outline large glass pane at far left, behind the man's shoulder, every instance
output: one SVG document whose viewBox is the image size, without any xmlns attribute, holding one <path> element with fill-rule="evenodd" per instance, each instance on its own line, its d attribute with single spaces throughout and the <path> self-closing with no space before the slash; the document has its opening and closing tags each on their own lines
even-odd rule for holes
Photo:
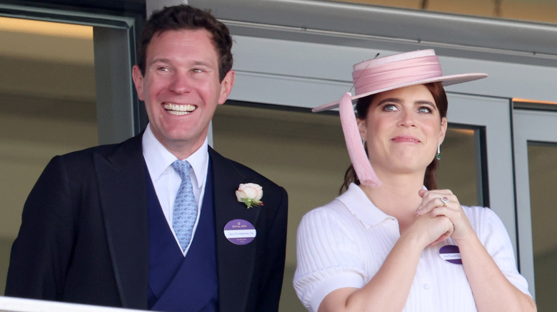
<svg viewBox="0 0 557 312">
<path fill-rule="evenodd" d="M 0 18 L 0 293 L 31 187 L 54 157 L 97 144 L 91 27 Z"/>
</svg>

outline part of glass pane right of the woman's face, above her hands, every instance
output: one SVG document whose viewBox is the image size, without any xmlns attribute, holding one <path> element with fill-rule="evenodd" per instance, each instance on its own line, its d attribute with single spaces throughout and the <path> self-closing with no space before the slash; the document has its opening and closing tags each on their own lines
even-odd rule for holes
<svg viewBox="0 0 557 312">
<path fill-rule="evenodd" d="M 481 194 L 478 194 L 481 164 L 478 163 L 480 157 L 476 156 L 479 152 L 476 131 L 449 125 L 437 170 L 437 187 L 451 189 L 466 206 L 483 205 Z"/>
</svg>

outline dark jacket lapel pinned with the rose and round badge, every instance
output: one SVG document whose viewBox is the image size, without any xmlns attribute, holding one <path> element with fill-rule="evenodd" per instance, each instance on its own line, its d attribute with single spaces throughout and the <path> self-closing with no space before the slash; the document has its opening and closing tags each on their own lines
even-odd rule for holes
<svg viewBox="0 0 557 312">
<path fill-rule="evenodd" d="M 243 219 L 257 228 L 261 210 L 247 209 L 244 203 L 236 201 L 235 191 L 239 184 L 253 181 L 246 181 L 246 177 L 231 166 L 230 160 L 211 148 L 209 156 L 214 175 L 219 306 L 221 311 L 246 311 L 256 261 L 256 241 L 245 245 L 233 244 L 224 236 L 224 227 L 231 220 Z"/>
</svg>

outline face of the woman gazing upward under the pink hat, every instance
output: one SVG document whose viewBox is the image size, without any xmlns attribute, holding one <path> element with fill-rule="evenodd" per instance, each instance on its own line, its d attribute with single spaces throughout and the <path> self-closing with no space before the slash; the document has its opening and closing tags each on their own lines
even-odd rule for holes
<svg viewBox="0 0 557 312">
<path fill-rule="evenodd" d="M 358 119 L 369 160 L 376 172 L 425 172 L 447 128 L 433 95 L 424 85 L 373 96 L 365 120 Z"/>
</svg>

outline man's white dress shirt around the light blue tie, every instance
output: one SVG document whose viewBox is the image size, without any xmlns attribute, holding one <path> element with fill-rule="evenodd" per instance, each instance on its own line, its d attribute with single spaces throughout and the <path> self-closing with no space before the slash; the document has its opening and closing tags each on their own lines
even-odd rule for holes
<svg viewBox="0 0 557 312">
<path fill-rule="evenodd" d="M 178 160 L 178 158 L 172 155 L 169 150 L 166 150 L 166 147 L 156 139 L 151 130 L 151 125 L 147 125 L 142 139 L 143 156 L 147 164 L 147 169 L 149 170 L 149 175 L 151 175 L 151 181 L 155 187 L 156 196 L 159 197 L 159 203 L 161 204 L 164 217 L 166 217 L 166 222 L 169 223 L 172 234 L 174 234 L 176 244 L 180 246 L 178 238 L 176 238 L 176 234 L 172 228 L 174 199 L 176 199 L 176 194 L 178 194 L 181 178 L 171 165 L 174 161 Z M 194 188 L 194 196 L 197 203 L 197 220 L 189 245 L 191 245 L 191 241 L 194 241 L 194 235 L 201 214 L 201 203 L 203 202 L 202 199 L 205 193 L 205 183 L 209 167 L 208 146 L 207 139 L 205 138 L 203 145 L 186 158 L 191 165 L 189 176 L 191 185 Z M 184 255 L 187 253 L 189 245 L 186 246 L 185 250 L 182 250 Z"/>
</svg>

